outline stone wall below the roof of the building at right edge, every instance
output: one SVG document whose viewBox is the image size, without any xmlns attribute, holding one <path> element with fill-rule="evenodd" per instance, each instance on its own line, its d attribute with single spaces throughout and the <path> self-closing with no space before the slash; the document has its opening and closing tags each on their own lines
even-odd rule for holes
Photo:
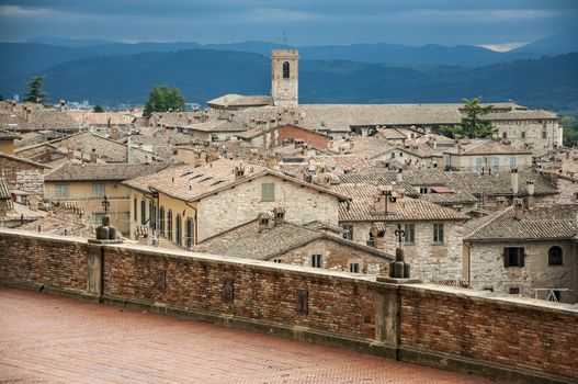
<svg viewBox="0 0 578 384">
<path fill-rule="evenodd" d="M 548 266 L 548 251 L 555 246 L 562 248 L 562 266 Z M 506 247 L 524 248 L 523 267 L 505 267 Z M 577 302 L 578 267 L 574 241 L 466 242 L 464 255 L 465 273 L 475 290 L 502 294 L 519 292 L 522 296 L 534 297 L 534 289 L 566 289 L 570 291 L 559 293 L 560 302 Z M 547 292 L 539 291 L 537 297 L 547 298 Z"/>
</svg>

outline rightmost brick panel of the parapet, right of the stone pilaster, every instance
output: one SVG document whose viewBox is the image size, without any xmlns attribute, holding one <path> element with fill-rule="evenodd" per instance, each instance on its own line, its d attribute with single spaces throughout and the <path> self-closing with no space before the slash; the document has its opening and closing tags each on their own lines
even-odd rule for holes
<svg viewBox="0 0 578 384">
<path fill-rule="evenodd" d="M 401 289 L 403 346 L 578 377 L 578 315 L 439 290 Z"/>
</svg>

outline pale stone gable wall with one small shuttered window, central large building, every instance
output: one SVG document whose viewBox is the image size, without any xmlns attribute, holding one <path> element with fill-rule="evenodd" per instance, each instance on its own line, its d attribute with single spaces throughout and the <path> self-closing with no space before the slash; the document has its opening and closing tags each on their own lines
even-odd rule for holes
<svg viewBox="0 0 578 384">
<path fill-rule="evenodd" d="M 275 185 L 274 200 L 262 200 L 263 183 Z M 201 200 L 197 207 L 199 241 L 247 223 L 259 212 L 271 212 L 275 207 L 284 208 L 285 219 L 291 223 L 319 221 L 338 224 L 337 196 L 274 176 L 264 176 Z"/>
</svg>

